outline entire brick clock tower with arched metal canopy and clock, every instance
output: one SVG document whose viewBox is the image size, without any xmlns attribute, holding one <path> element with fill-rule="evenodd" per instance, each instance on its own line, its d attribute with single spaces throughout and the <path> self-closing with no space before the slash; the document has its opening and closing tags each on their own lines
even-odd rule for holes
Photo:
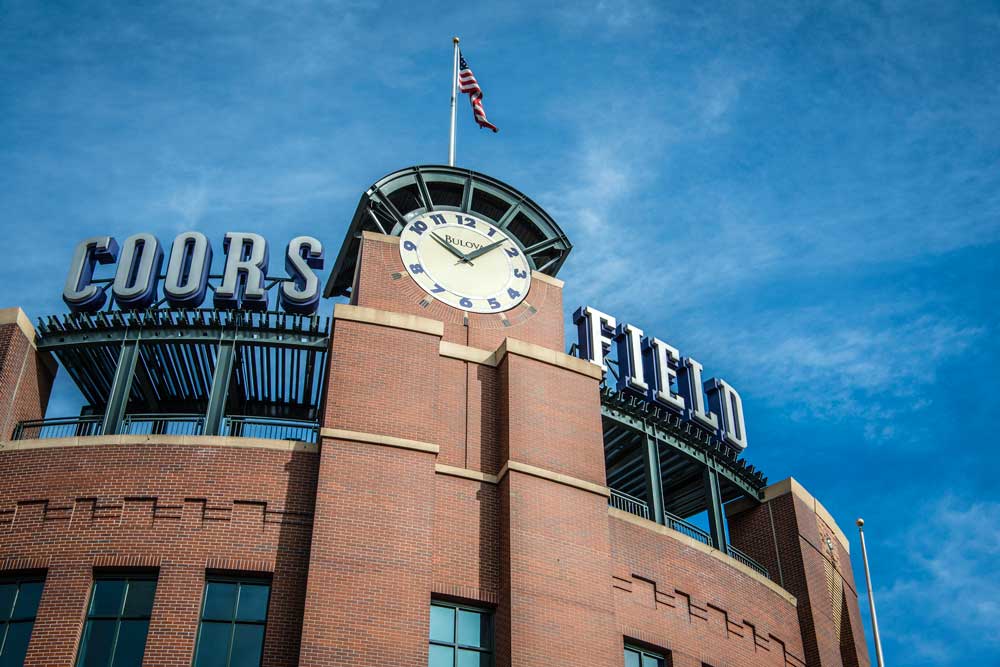
<svg viewBox="0 0 1000 667">
<path fill-rule="evenodd" d="M 350 303 L 334 312 L 301 665 L 426 667 L 435 603 L 491 614 L 498 667 L 621 660 L 602 373 L 565 353 L 555 277 L 570 248 L 476 172 L 412 167 L 362 196 L 326 286 Z M 359 648 L 373 628 L 393 643 Z"/>
</svg>

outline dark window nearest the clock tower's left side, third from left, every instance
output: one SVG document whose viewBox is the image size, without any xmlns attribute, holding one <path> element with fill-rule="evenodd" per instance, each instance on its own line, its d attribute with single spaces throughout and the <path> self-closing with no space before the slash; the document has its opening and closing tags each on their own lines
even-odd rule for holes
<svg viewBox="0 0 1000 667">
<path fill-rule="evenodd" d="M 209 577 L 201 604 L 195 667 L 252 667 L 264 654 L 271 583 L 266 579 Z"/>
</svg>

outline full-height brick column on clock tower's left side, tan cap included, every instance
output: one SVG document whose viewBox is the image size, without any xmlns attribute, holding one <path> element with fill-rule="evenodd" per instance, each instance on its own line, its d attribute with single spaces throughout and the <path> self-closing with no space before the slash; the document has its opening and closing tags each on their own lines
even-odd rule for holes
<svg viewBox="0 0 1000 667">
<path fill-rule="evenodd" d="M 441 331 L 336 308 L 300 665 L 427 665 Z"/>
</svg>

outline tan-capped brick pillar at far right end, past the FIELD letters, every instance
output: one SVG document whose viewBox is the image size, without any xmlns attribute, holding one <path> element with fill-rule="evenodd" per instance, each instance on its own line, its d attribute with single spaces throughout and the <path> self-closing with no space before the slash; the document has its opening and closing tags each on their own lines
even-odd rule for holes
<svg viewBox="0 0 1000 667">
<path fill-rule="evenodd" d="M 868 667 L 847 537 L 792 478 L 769 486 L 764 499 L 727 507 L 730 539 L 798 599 L 806 663 Z"/>
</svg>

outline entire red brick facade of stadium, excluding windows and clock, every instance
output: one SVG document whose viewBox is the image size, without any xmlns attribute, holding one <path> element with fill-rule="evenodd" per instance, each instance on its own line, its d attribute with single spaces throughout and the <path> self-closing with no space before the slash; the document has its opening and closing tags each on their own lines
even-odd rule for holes
<svg viewBox="0 0 1000 667">
<path fill-rule="evenodd" d="M 424 667 L 440 598 L 494 611 L 497 667 L 613 667 L 626 642 L 676 667 L 867 667 L 849 554 L 804 490 L 729 518 L 777 583 L 609 509 L 600 373 L 564 354 L 559 281 L 466 318 L 425 301 L 395 239 L 366 234 L 354 295 L 335 311 L 318 447 L 0 443 L 0 568 L 46 573 L 27 664 L 72 665 L 94 571 L 127 568 L 159 576 L 149 665 L 191 664 L 206 572 L 236 571 L 272 579 L 269 666 Z M 10 428 L 51 385 L 14 329 Z"/>
</svg>

